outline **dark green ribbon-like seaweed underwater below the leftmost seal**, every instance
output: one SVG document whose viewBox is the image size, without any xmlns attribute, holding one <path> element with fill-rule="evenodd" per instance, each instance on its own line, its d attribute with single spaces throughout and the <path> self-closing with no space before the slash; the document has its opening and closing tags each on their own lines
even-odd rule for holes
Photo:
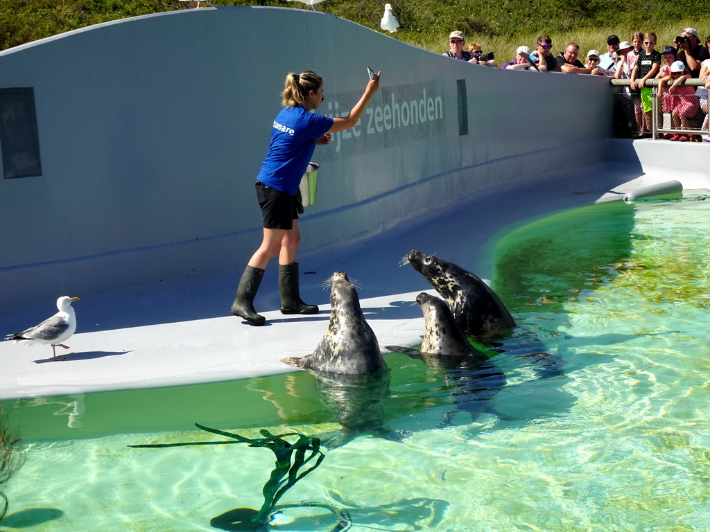
<svg viewBox="0 0 710 532">
<path fill-rule="evenodd" d="M 246 443 L 249 447 L 268 448 L 276 455 L 276 465 L 271 472 L 271 477 L 264 484 L 262 489 L 264 503 L 261 509 L 256 511 L 251 508 L 237 508 L 226 511 L 210 521 L 214 528 L 221 528 L 228 531 L 246 531 L 258 530 L 263 525 L 266 525 L 274 514 L 286 508 L 294 508 L 298 506 L 320 506 L 332 511 L 337 516 L 338 523 L 333 528 L 333 532 L 344 531 L 350 528 L 352 522 L 348 511 L 339 509 L 337 506 L 320 501 L 302 501 L 300 503 L 280 504 L 276 505 L 285 492 L 296 482 L 301 480 L 308 473 L 318 467 L 325 455 L 320 450 L 320 439 L 315 437 L 305 436 L 300 433 L 285 433 L 273 435 L 265 428 L 262 428 L 261 433 L 264 438 L 251 439 L 240 436 L 239 434 L 220 431 L 216 428 L 209 428 L 195 423 L 197 428 L 203 431 L 226 436 L 231 440 L 222 441 L 202 441 L 202 442 L 187 442 L 187 443 L 152 443 L 144 445 L 129 445 L 131 448 L 160 448 L 160 447 L 182 447 L 185 445 L 224 445 L 225 443 Z M 297 437 L 294 443 L 286 440 L 286 437 Z M 307 470 L 299 472 L 301 467 L 315 459 L 315 464 L 308 467 Z"/>
</svg>

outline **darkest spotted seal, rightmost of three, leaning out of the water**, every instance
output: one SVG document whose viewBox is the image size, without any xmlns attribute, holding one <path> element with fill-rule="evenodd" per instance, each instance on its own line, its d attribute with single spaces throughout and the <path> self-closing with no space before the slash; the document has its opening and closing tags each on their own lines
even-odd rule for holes
<svg viewBox="0 0 710 532">
<path fill-rule="evenodd" d="M 447 301 L 464 334 L 493 338 L 515 327 L 503 301 L 476 275 L 453 262 L 416 250 L 408 253 L 404 262 L 407 261 Z"/>
</svg>

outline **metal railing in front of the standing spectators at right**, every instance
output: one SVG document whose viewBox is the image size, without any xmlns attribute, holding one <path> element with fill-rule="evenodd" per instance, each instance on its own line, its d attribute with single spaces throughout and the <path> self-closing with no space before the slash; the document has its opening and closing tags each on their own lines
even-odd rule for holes
<svg viewBox="0 0 710 532">
<path fill-rule="evenodd" d="M 695 94 L 674 95 L 668 93 L 668 84 L 663 87 L 663 96 L 665 99 L 658 97 L 659 79 L 649 79 L 645 86 L 651 88 L 652 103 L 651 103 L 651 138 L 658 138 L 659 134 L 672 133 L 675 135 L 710 135 L 710 126 L 708 124 L 708 101 L 701 101 Z M 629 87 L 630 80 L 628 79 L 611 79 L 613 87 Z M 681 85 L 686 87 L 704 87 L 704 79 L 686 79 Z M 633 130 L 632 124 L 640 131 L 638 126 L 638 116 L 643 113 L 641 110 L 640 95 L 630 92 L 613 92 L 612 97 L 615 98 L 614 105 L 614 124 L 615 133 L 617 126 L 620 123 L 627 123 L 626 128 Z M 689 109 L 697 110 L 692 116 L 680 116 L 678 113 L 672 113 L 671 109 L 677 109 L 678 105 L 686 106 Z M 619 116 L 618 113 L 622 113 Z M 676 126 L 676 127 L 674 127 Z M 629 131 L 630 133 L 630 131 Z M 623 136 L 623 133 L 620 135 Z"/>
</svg>

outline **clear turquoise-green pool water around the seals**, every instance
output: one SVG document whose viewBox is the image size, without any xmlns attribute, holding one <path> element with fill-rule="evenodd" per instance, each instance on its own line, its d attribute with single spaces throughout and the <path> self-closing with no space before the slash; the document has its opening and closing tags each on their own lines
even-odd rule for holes
<svg viewBox="0 0 710 532">
<path fill-rule="evenodd" d="M 519 323 L 492 353 L 505 383 L 465 403 L 450 372 L 386 355 L 384 424 L 410 436 L 324 450 L 282 502 L 347 509 L 354 531 L 709 530 L 703 198 L 586 206 L 496 238 L 495 288 Z M 272 453 L 128 445 L 222 439 L 195 422 L 249 438 L 263 427 L 335 431 L 320 397 L 300 372 L 7 402 L 26 462 L 5 489 L 0 530 L 215 530 L 215 516 L 261 506 Z M 317 531 L 336 521 L 316 507 L 272 524 Z"/>
</svg>

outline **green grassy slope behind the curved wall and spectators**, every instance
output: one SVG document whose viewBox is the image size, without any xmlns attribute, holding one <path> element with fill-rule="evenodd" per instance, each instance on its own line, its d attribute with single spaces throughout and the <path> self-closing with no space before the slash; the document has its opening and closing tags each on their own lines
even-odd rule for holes
<svg viewBox="0 0 710 532">
<path fill-rule="evenodd" d="M 380 30 L 386 0 L 326 0 L 317 9 Z M 310 9 L 285 0 L 212 0 L 219 6 L 261 5 Z M 390 0 L 400 21 L 398 38 L 405 43 L 443 53 L 451 31 L 466 33 L 467 43 L 480 43 L 494 52 L 499 64 L 515 55 L 515 48 L 532 48 L 537 35 L 552 37 L 557 54 L 570 41 L 580 55 L 591 48 L 606 52 L 612 33 L 631 40 L 634 31 L 655 31 L 656 48 L 672 43 L 683 28 L 710 35 L 710 12 L 697 0 Z M 185 9 L 178 0 L 13 0 L 0 7 L 0 49 L 10 48 L 92 24 L 129 16 Z M 542 14 L 541 14 L 542 13 Z M 612 22 L 610 22 L 612 21 Z"/>
</svg>

